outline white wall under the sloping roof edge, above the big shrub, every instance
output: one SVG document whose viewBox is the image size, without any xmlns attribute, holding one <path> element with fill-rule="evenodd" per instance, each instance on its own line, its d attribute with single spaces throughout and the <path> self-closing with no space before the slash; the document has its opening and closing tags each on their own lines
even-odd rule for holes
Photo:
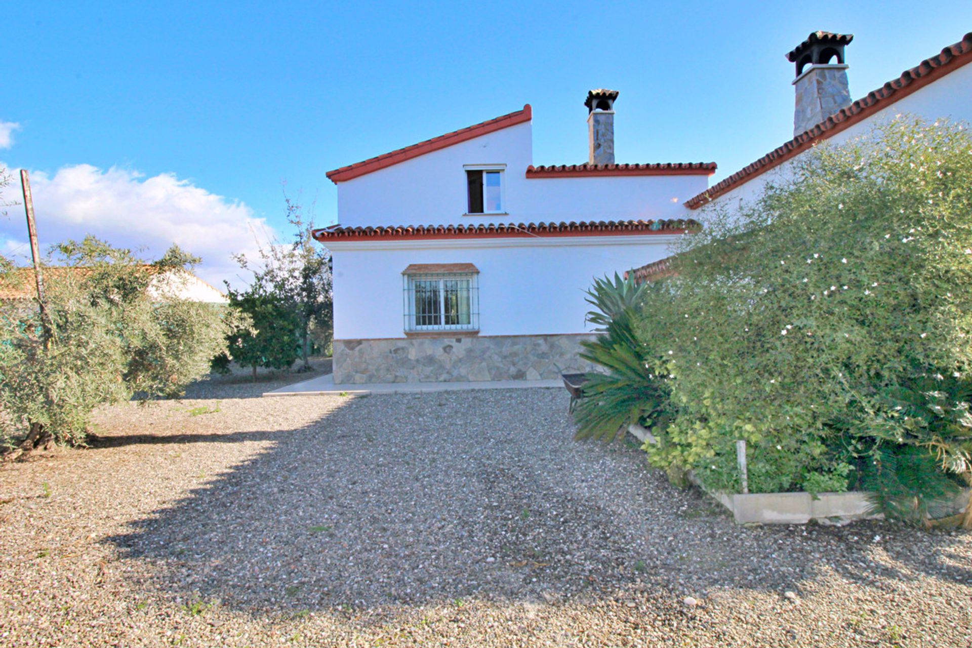
<svg viewBox="0 0 972 648">
<path fill-rule="evenodd" d="M 912 94 L 878 111 L 867 119 L 861 119 L 847 130 L 837 133 L 826 140 L 831 145 L 848 142 L 851 139 L 866 135 L 878 123 L 887 119 L 894 119 L 898 115 L 913 115 L 924 119 L 947 118 L 972 122 L 972 64 L 964 65 L 954 72 L 937 81 L 921 87 Z M 805 153 L 800 153 L 806 154 Z M 712 201 L 726 209 L 738 209 L 741 204 L 757 198 L 766 184 L 772 180 L 781 180 L 792 173 L 793 159 L 783 162 L 780 166 L 763 173 L 745 185 L 733 188 Z M 685 209 L 678 218 L 692 218 L 698 210 Z"/>
</svg>

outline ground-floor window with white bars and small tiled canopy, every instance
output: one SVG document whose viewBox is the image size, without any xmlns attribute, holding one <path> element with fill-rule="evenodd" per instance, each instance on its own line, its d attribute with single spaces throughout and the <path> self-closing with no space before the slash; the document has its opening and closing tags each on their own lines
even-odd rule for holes
<svg viewBox="0 0 972 648">
<path fill-rule="evenodd" d="M 430 271 L 443 266 L 466 271 Z M 479 330 L 479 272 L 471 263 L 410 265 L 402 274 L 405 331 Z"/>
</svg>

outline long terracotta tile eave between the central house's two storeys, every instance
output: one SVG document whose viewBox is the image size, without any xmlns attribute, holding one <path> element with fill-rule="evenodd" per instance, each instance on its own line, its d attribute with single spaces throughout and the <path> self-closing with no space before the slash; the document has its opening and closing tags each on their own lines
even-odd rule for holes
<svg viewBox="0 0 972 648">
<path fill-rule="evenodd" d="M 315 229 L 314 238 L 321 242 L 335 239 L 389 238 L 526 238 L 544 236 L 623 236 L 632 234 L 679 234 L 699 226 L 689 220 L 671 221 L 598 221 L 490 223 L 470 225 L 395 225 L 376 227 L 343 227 L 332 225 Z"/>
</svg>

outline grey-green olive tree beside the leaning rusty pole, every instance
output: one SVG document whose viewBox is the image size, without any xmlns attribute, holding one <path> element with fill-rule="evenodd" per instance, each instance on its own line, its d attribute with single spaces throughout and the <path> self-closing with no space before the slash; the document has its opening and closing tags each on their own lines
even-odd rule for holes
<svg viewBox="0 0 972 648">
<path fill-rule="evenodd" d="M 0 308 L 0 425 L 25 450 L 84 443 L 99 405 L 181 394 L 226 348 L 232 324 L 217 307 L 149 295 L 154 275 L 193 260 L 177 248 L 151 265 L 90 236 L 54 252 L 47 322 L 36 302 Z"/>
</svg>

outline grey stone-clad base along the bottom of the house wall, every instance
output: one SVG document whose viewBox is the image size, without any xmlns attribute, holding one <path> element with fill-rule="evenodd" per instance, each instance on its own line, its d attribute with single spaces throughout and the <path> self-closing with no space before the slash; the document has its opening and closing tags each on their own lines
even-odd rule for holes
<svg viewBox="0 0 972 648">
<path fill-rule="evenodd" d="M 573 335 L 334 340 L 334 384 L 544 380 L 592 370 Z"/>
</svg>

